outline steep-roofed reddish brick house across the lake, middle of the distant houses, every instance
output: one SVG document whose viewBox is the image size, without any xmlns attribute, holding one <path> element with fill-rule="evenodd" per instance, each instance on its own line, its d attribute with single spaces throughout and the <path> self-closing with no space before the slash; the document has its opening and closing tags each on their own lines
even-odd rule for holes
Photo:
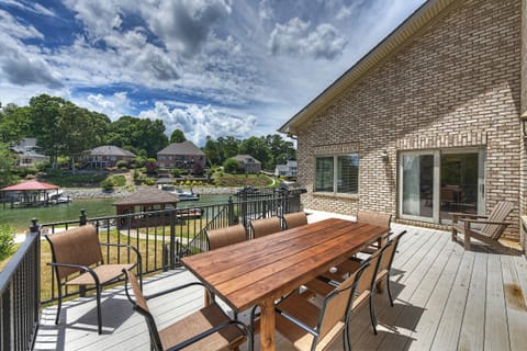
<svg viewBox="0 0 527 351">
<path fill-rule="evenodd" d="M 205 154 L 190 140 L 172 143 L 157 152 L 157 165 L 160 168 L 193 170 L 198 165 L 205 169 Z"/>
</svg>

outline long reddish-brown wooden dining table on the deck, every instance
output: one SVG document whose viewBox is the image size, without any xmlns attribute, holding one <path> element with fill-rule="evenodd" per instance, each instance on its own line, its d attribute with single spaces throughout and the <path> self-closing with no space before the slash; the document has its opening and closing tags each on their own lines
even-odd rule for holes
<svg viewBox="0 0 527 351">
<path fill-rule="evenodd" d="M 234 312 L 258 305 L 260 350 L 274 350 L 274 301 L 370 244 L 383 240 L 389 230 L 328 218 L 181 261 Z"/>
</svg>

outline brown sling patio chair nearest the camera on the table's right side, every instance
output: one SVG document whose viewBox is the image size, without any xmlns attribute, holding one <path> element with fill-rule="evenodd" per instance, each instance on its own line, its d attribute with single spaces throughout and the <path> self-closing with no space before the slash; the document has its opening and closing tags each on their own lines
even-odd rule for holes
<svg viewBox="0 0 527 351">
<path fill-rule="evenodd" d="M 333 286 L 317 307 L 303 294 L 293 293 L 276 304 L 276 329 L 296 350 L 328 350 L 343 335 L 345 350 L 351 349 L 349 322 L 356 287 L 368 268 L 366 262 L 338 286 Z"/>
</svg>

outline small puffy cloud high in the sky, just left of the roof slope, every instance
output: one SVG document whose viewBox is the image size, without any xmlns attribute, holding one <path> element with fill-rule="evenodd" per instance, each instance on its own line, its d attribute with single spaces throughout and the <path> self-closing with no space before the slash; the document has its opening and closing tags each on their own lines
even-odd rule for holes
<svg viewBox="0 0 527 351">
<path fill-rule="evenodd" d="M 271 33 L 269 46 L 274 55 L 304 56 L 315 59 L 334 59 L 346 47 L 344 36 L 337 34 L 337 29 L 323 23 L 310 31 L 311 23 L 291 19 L 285 24 L 277 23 Z"/>
</svg>

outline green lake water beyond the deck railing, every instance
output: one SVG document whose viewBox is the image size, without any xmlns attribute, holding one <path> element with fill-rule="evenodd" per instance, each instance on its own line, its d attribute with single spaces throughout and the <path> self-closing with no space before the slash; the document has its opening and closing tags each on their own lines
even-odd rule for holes
<svg viewBox="0 0 527 351">
<path fill-rule="evenodd" d="M 183 201 L 179 203 L 178 207 L 225 203 L 228 201 L 228 194 L 202 194 L 199 201 Z M 77 219 L 80 216 L 81 208 L 86 210 L 88 218 L 112 216 L 115 214 L 113 203 L 116 200 L 116 197 L 74 200 L 69 204 L 25 208 L 10 208 L 9 205 L 3 208 L 3 204 L 0 204 L 0 223 L 11 225 L 16 233 L 24 233 L 31 226 L 32 218 L 37 218 L 38 223 Z"/>
</svg>

